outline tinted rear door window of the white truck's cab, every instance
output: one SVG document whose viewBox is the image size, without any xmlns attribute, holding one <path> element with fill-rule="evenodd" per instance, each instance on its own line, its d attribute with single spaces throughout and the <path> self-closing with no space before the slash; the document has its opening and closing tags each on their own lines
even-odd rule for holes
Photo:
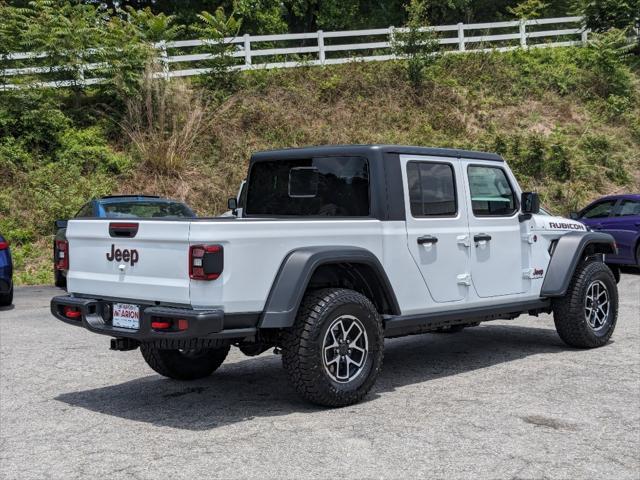
<svg viewBox="0 0 640 480">
<path fill-rule="evenodd" d="M 407 163 L 413 217 L 453 216 L 458 211 L 453 167 L 447 163 Z"/>
</svg>

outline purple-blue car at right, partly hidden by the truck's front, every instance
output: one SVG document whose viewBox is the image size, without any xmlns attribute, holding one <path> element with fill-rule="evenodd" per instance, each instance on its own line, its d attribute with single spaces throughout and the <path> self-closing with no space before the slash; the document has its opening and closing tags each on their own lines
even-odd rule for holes
<svg viewBox="0 0 640 480">
<path fill-rule="evenodd" d="M 607 255 L 607 264 L 640 267 L 640 194 L 602 197 L 570 216 L 591 230 L 613 235 L 618 254 Z"/>
</svg>

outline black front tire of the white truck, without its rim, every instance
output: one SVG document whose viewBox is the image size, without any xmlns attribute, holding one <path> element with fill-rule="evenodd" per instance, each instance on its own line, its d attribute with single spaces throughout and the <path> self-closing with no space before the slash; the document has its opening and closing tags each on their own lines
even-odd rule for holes
<svg viewBox="0 0 640 480">
<path fill-rule="evenodd" d="M 585 316 L 587 289 L 600 281 L 609 295 L 610 310 L 604 326 L 595 331 Z M 601 262 L 581 263 L 576 268 L 567 293 L 553 300 L 553 320 L 558 335 L 567 345 L 576 348 L 596 348 L 605 345 L 618 318 L 618 288 L 609 267 Z"/>
</svg>

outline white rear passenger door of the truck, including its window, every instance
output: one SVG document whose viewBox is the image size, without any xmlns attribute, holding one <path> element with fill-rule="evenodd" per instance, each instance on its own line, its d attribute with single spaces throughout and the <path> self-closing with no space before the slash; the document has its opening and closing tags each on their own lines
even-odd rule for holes
<svg viewBox="0 0 640 480">
<path fill-rule="evenodd" d="M 407 242 L 435 302 L 464 300 L 469 289 L 469 231 L 459 161 L 401 156 Z"/>
</svg>

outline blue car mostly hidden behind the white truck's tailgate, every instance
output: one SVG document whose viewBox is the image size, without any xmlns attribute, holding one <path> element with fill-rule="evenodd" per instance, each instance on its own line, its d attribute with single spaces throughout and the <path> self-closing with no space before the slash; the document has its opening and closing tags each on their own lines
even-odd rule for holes
<svg viewBox="0 0 640 480">
<path fill-rule="evenodd" d="M 193 218 L 184 203 L 151 195 L 110 195 L 85 203 L 74 218 Z M 53 273 L 56 287 L 66 288 L 69 269 L 67 220 L 56 220 Z"/>
</svg>

